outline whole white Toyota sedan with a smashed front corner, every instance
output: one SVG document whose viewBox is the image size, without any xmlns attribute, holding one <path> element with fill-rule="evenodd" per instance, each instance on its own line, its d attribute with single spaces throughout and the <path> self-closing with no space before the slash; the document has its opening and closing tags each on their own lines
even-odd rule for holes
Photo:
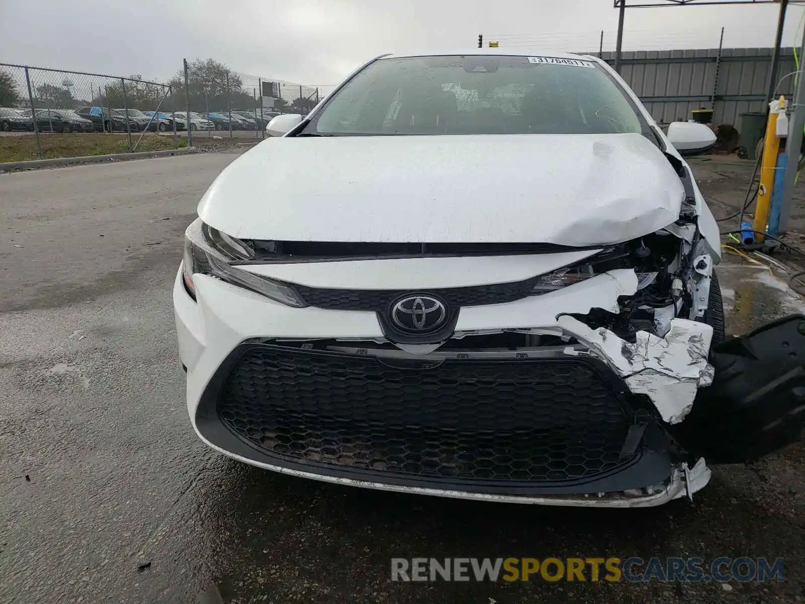
<svg viewBox="0 0 805 604">
<path fill-rule="evenodd" d="M 558 505 L 799 440 L 805 317 L 725 340 L 719 231 L 601 60 L 381 56 L 210 186 L 173 292 L 192 424 L 268 470 Z M 724 341 L 722 343 L 722 341 Z"/>
</svg>

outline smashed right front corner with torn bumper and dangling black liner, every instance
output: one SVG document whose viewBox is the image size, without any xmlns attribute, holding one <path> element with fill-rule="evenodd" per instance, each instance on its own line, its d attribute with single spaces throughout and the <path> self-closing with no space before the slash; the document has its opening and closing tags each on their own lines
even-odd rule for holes
<svg viewBox="0 0 805 604">
<path fill-rule="evenodd" d="M 560 313 L 556 324 L 576 344 L 566 352 L 603 360 L 628 388 L 634 424 L 625 449 L 673 460 L 684 489 L 670 499 L 706 485 L 705 460 L 756 461 L 805 434 L 805 316 L 725 337 L 718 259 L 693 201 L 665 229 L 545 278 L 605 274 L 618 282 L 608 304 Z"/>
</svg>

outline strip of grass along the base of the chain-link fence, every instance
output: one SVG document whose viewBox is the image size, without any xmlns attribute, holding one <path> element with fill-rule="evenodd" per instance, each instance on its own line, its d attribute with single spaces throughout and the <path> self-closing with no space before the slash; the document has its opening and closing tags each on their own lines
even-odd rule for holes
<svg viewBox="0 0 805 604">
<path fill-rule="evenodd" d="M 137 143 L 139 134 L 131 135 L 131 142 Z M 29 159 L 53 159 L 57 157 L 81 157 L 84 155 L 107 155 L 129 151 L 128 134 L 40 134 L 42 155 L 36 152 L 36 139 L 33 134 L 0 137 L 0 163 L 20 162 Z M 187 135 L 179 136 L 179 147 L 187 147 Z M 193 143 L 196 141 L 194 140 Z M 146 134 L 136 151 L 161 151 L 173 148 L 172 136 Z"/>
</svg>

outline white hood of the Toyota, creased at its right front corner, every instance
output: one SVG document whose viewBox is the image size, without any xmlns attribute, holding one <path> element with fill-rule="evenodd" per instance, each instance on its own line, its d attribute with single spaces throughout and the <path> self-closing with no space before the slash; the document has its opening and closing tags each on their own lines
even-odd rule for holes
<svg viewBox="0 0 805 604">
<path fill-rule="evenodd" d="M 283 137 L 198 213 L 237 238 L 592 246 L 676 221 L 683 185 L 642 134 Z"/>
</svg>

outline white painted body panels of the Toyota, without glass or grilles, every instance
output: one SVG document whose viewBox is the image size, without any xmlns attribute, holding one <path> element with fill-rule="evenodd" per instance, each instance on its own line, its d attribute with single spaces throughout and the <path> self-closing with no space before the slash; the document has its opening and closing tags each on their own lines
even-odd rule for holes
<svg viewBox="0 0 805 604">
<path fill-rule="evenodd" d="M 477 54 L 495 54 L 495 49 L 479 49 Z M 556 52 L 548 56 L 595 62 L 609 72 L 642 117 L 654 125 L 628 85 L 597 57 Z M 337 89 L 330 97 L 336 93 Z M 686 192 L 672 161 L 689 169 L 687 163 L 659 129 L 657 136 L 667 156 L 641 134 L 329 139 L 288 135 L 261 143 L 229 164 L 204 194 L 198 213 L 201 221 L 237 239 L 544 242 L 578 248 L 555 254 L 291 260 L 238 267 L 277 282 L 324 289 L 427 292 L 431 288 L 518 282 L 590 257 L 609 244 L 663 232 L 679 238 L 683 247 L 698 246 L 696 254 L 702 263 L 696 279 L 701 316 L 707 305 L 712 267 L 720 260 L 719 231 L 695 181 L 691 179 Z M 686 202 L 686 194 L 691 193 Z M 690 225 L 675 225 L 686 203 L 696 215 L 700 239 Z M 192 285 L 196 300 L 188 296 L 180 269 L 174 304 L 180 356 L 188 372 L 188 413 L 208 445 L 241 461 L 306 478 L 386 490 L 604 507 L 650 506 L 690 496 L 710 477 L 700 459 L 695 464 L 676 465 L 669 470 L 667 481 L 643 490 L 481 494 L 328 476 L 235 451 L 214 442 L 200 428 L 200 403 L 217 379 L 219 368 L 244 341 L 328 338 L 382 342 L 386 335 L 376 312 L 291 308 L 211 275 L 192 275 Z M 584 352 L 568 347 L 566 354 L 600 359 L 634 395 L 647 396 L 664 422 L 678 424 L 690 412 L 698 389 L 712 381 L 708 363 L 712 327 L 697 316 L 666 317 L 663 337 L 640 332 L 637 341 L 630 343 L 571 316 L 585 315 L 594 308 L 617 312 L 619 297 L 634 295 L 637 290 L 635 271 L 609 271 L 541 296 L 460 308 L 455 333 L 461 337 L 515 330 L 572 338 L 580 342 Z M 412 357 L 431 354 L 438 348 L 415 344 L 397 347 Z"/>
</svg>

